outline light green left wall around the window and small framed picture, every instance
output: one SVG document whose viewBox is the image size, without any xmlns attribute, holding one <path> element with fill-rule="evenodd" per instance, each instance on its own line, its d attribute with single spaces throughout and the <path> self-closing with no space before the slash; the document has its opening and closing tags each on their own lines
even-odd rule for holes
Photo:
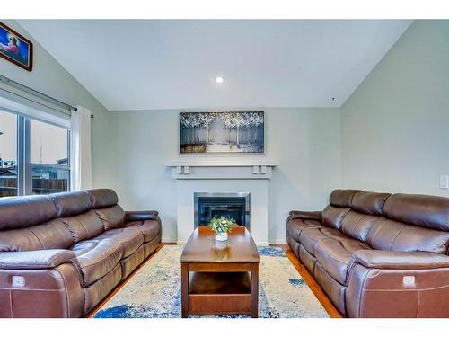
<svg viewBox="0 0 449 337">
<path fill-rule="evenodd" d="M 34 48 L 34 66 L 32 72 L 29 72 L 4 60 L 4 58 L 0 58 L 0 74 L 30 86 L 41 93 L 55 97 L 62 102 L 72 105 L 79 104 L 92 111 L 95 115 L 92 120 L 93 184 L 94 186 L 107 186 L 109 182 L 107 178 L 110 178 L 110 172 L 102 162 L 105 156 L 110 155 L 107 144 L 112 135 L 108 131 L 108 111 L 27 31 L 23 30 L 21 25 L 13 20 L 2 20 L 2 22 L 31 40 Z M 67 48 L 70 48 L 70 44 L 67 45 Z M 76 50 L 73 50 L 73 52 L 76 53 Z"/>
</svg>

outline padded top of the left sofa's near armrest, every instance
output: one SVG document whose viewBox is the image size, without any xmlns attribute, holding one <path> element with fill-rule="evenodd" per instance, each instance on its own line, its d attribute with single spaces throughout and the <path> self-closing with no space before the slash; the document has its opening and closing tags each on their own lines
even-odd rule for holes
<svg viewBox="0 0 449 337">
<path fill-rule="evenodd" d="M 66 249 L 0 253 L 0 269 L 40 270 L 55 268 L 75 259 L 75 253 Z"/>
</svg>

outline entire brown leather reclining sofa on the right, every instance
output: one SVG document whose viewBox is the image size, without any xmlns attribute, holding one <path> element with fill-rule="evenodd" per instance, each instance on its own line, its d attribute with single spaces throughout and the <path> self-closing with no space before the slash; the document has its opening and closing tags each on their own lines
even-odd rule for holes
<svg viewBox="0 0 449 337">
<path fill-rule="evenodd" d="M 291 250 L 349 317 L 449 317 L 448 232 L 448 198 L 357 190 L 286 223 Z"/>
</svg>

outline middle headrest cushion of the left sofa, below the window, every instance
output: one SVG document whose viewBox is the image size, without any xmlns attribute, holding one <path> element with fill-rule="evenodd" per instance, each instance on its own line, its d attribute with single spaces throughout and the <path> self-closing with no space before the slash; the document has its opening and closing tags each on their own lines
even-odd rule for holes
<svg viewBox="0 0 449 337">
<path fill-rule="evenodd" d="M 49 196 L 57 208 L 57 217 L 73 217 L 92 208 L 92 201 L 86 191 L 62 192 Z"/>
</svg>

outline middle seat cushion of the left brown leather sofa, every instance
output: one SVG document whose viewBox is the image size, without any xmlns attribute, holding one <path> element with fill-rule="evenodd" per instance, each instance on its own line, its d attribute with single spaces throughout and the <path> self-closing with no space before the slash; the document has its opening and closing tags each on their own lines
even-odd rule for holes
<svg viewBox="0 0 449 337">
<path fill-rule="evenodd" d="M 135 253 L 144 243 L 144 235 L 136 227 L 111 229 L 98 235 L 95 240 L 110 239 L 118 242 L 122 248 L 121 259 Z"/>
</svg>

